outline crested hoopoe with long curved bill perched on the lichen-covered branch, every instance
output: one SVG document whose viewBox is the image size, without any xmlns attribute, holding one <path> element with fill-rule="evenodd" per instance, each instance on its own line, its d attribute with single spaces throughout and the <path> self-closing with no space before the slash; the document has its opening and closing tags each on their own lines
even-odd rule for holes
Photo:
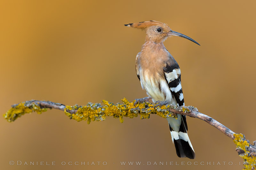
<svg viewBox="0 0 256 170">
<path fill-rule="evenodd" d="M 161 105 L 185 106 L 180 67 L 165 48 L 164 41 L 170 36 L 179 36 L 198 43 L 184 34 L 172 31 L 167 24 L 159 21 L 143 21 L 124 26 L 146 32 L 145 43 L 135 59 L 135 69 L 141 87 L 146 90 L 148 97 L 137 99 L 136 103 L 152 99 L 153 102 Z M 178 114 L 177 119 L 167 117 L 167 121 L 178 157 L 194 159 L 195 151 L 188 137 L 186 116 Z"/>
</svg>

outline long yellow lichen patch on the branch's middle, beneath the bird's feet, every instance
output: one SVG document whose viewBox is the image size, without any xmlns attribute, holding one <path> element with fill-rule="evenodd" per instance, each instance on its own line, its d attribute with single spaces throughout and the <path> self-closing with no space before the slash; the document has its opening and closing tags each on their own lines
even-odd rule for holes
<svg viewBox="0 0 256 170">
<path fill-rule="evenodd" d="M 65 113 L 70 118 L 76 120 L 76 121 L 82 121 L 87 120 L 87 123 L 89 124 L 91 121 L 103 121 L 106 119 L 106 116 L 113 116 L 114 118 L 119 118 L 119 121 L 121 123 L 124 122 L 123 117 L 137 117 L 138 114 L 140 115 L 140 119 L 148 119 L 150 117 L 150 114 L 156 114 L 163 118 L 166 118 L 167 115 L 170 115 L 170 112 L 168 111 L 168 107 L 163 105 L 161 107 L 155 108 L 155 105 L 149 102 L 146 103 L 137 103 L 134 106 L 134 102 L 129 102 L 127 99 L 122 99 L 124 104 L 116 104 L 109 103 L 106 100 L 102 100 L 102 103 L 105 104 L 105 106 L 98 107 L 97 104 L 90 104 L 87 106 L 66 106 Z M 136 110 L 136 108 L 140 109 L 140 112 Z M 76 109 L 76 114 L 70 114 L 67 110 L 74 110 Z M 134 110 L 135 109 L 135 110 Z M 143 111 L 141 111 L 143 110 Z M 176 117 L 175 115 L 173 117 Z"/>
</svg>

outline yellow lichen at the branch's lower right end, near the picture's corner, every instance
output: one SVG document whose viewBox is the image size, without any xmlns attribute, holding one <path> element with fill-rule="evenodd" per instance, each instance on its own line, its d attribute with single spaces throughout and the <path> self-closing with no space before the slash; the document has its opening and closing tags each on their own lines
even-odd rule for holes
<svg viewBox="0 0 256 170">
<path fill-rule="evenodd" d="M 256 168 L 256 157 L 250 155 L 250 152 L 246 150 L 246 147 L 249 146 L 249 143 L 245 140 L 243 134 L 234 134 L 234 143 L 236 144 L 236 148 L 239 150 L 243 150 L 244 154 L 240 154 L 239 156 L 244 159 L 244 169 L 251 170 L 252 168 Z"/>
</svg>

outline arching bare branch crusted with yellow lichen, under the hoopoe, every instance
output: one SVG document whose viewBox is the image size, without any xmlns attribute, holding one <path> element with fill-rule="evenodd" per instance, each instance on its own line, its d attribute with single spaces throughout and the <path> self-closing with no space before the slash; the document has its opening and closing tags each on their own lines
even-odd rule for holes
<svg viewBox="0 0 256 170">
<path fill-rule="evenodd" d="M 133 118 L 137 117 L 138 115 L 140 115 L 140 119 L 148 119 L 150 114 L 156 114 L 163 118 L 176 118 L 177 114 L 186 115 L 209 123 L 233 139 L 237 146 L 236 151 L 245 161 L 245 169 L 255 169 L 256 141 L 253 142 L 254 145 L 250 144 L 249 140 L 246 140 L 243 134 L 237 134 L 212 117 L 198 112 L 196 107 L 179 107 L 178 105 L 163 105 L 159 107 L 157 103 L 152 104 L 150 102 L 137 103 L 134 105 L 135 100 L 133 102 L 129 102 L 125 98 L 122 101 L 124 104 L 117 103 L 114 105 L 113 103 L 108 103 L 108 101 L 103 100 L 102 102 L 105 104 L 105 106 L 102 106 L 100 103 L 88 103 L 87 106 L 65 106 L 63 104 L 54 103 L 51 101 L 29 100 L 12 105 L 12 108 L 4 114 L 4 118 L 8 122 L 13 122 L 21 115 L 31 112 L 41 114 L 42 112 L 45 112 L 47 108 L 59 109 L 64 111 L 65 114 L 70 117 L 70 119 L 74 119 L 76 121 L 87 120 L 88 124 L 91 121 L 104 121 L 106 120 L 106 116 L 119 118 L 120 122 L 122 123 L 124 122 L 123 117 Z"/>
</svg>

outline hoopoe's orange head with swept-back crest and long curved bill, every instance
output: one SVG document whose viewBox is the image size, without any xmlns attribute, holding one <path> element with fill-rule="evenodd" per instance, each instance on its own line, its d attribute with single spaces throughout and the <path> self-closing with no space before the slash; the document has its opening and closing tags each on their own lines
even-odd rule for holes
<svg viewBox="0 0 256 170">
<path fill-rule="evenodd" d="M 164 42 L 169 36 L 179 36 L 186 38 L 190 41 L 195 42 L 198 44 L 195 40 L 192 38 L 189 38 L 188 36 L 172 31 L 171 28 L 162 22 L 159 21 L 145 21 L 145 22 L 138 22 L 138 23 L 131 23 L 131 24 L 124 24 L 124 26 L 129 26 L 133 28 L 138 28 L 146 31 L 146 41 L 154 41 L 156 43 Z M 198 44 L 200 45 L 200 44 Z"/>
</svg>

